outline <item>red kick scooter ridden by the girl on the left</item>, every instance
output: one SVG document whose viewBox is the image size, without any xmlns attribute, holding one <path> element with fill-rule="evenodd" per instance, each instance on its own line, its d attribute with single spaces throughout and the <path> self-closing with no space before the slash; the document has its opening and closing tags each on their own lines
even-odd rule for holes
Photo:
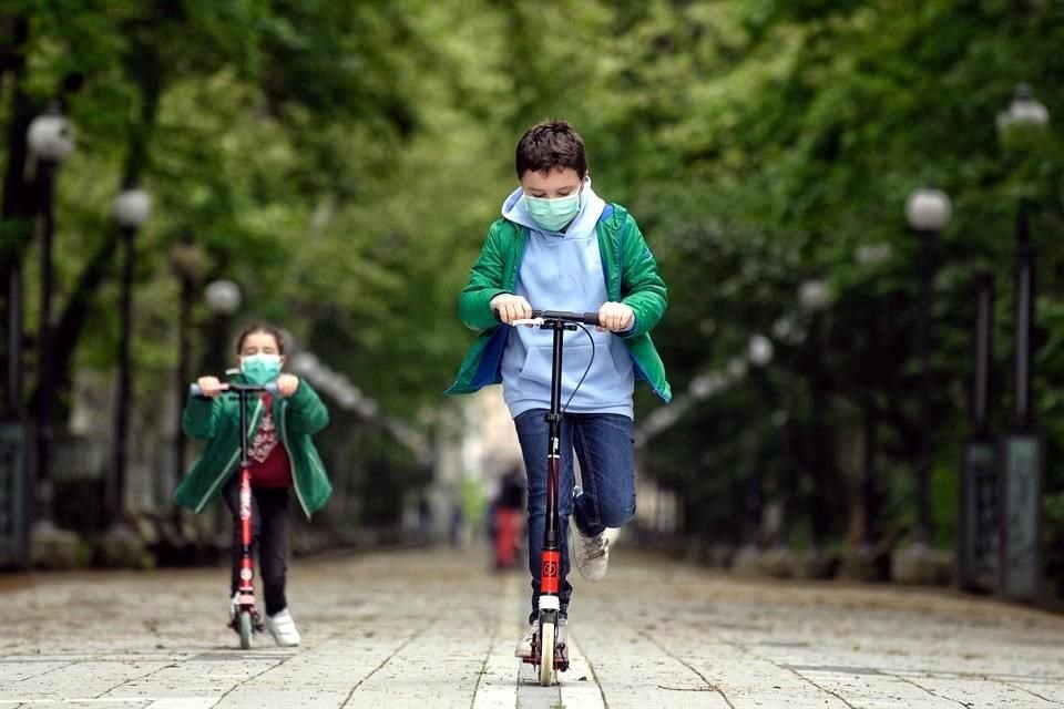
<svg viewBox="0 0 1064 709">
<path fill-rule="evenodd" d="M 202 397 L 198 384 L 190 386 L 194 397 Z M 247 402 L 263 392 L 277 394 L 277 384 L 226 384 L 219 395 L 235 395 L 239 404 L 241 435 L 241 577 L 236 589 L 236 613 L 232 628 L 241 636 L 241 648 L 252 647 L 252 634 L 265 629 L 263 614 L 255 607 L 255 559 L 252 556 L 252 461 L 248 455 L 247 440 L 250 431 L 247 415 Z"/>
</svg>

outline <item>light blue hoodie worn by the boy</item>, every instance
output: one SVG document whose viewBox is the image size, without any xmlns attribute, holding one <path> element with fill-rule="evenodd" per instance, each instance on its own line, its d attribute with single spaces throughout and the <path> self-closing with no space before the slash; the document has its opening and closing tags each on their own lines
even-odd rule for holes
<svg viewBox="0 0 1064 709">
<path fill-rule="evenodd" d="M 564 233 L 543 230 L 529 215 L 523 194 L 519 187 L 502 205 L 503 217 L 529 227 L 515 294 L 538 310 L 597 312 L 608 300 L 595 232 L 606 205 L 592 191 L 591 178 L 584 178 L 580 213 Z M 565 332 L 562 407 L 573 395 L 590 361 L 591 369 L 565 410 L 617 413 L 631 419 L 635 377 L 627 348 L 614 333 L 586 327 L 591 338 L 581 329 Z M 502 356 L 502 394 L 511 417 L 550 408 L 552 339 L 550 330 L 511 328 Z"/>
</svg>

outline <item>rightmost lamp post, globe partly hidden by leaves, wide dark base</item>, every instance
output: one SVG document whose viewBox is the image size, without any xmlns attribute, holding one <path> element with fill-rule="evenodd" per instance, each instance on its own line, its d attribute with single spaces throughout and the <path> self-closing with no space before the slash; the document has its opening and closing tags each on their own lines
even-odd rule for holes
<svg viewBox="0 0 1064 709">
<path fill-rule="evenodd" d="M 998 115 L 1003 142 L 1016 134 L 1043 129 L 1050 112 L 1030 86 L 1016 86 L 1009 110 Z M 1031 395 L 1035 317 L 1035 249 L 1031 244 L 1026 205 L 1021 198 L 1015 226 L 1015 310 L 1013 342 L 1012 431 L 1002 436 L 1001 561 L 999 590 L 1011 598 L 1035 599 L 1041 594 L 1042 487 L 1045 441 L 1037 431 Z"/>
</svg>

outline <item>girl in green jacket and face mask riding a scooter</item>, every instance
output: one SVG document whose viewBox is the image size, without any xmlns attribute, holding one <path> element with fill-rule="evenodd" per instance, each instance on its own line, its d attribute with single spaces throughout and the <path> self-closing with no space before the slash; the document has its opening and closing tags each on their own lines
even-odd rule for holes
<svg viewBox="0 0 1064 709">
<path fill-rule="evenodd" d="M 329 499 L 325 465 L 310 436 L 329 422 L 329 412 L 305 381 L 282 373 L 284 337 L 269 325 L 254 325 L 237 339 L 239 374 L 234 383 L 277 383 L 277 395 L 263 393 L 249 407 L 248 454 L 252 467 L 252 553 L 257 554 L 266 602 L 266 629 L 282 647 L 299 645 L 299 631 L 285 598 L 288 554 L 288 496 L 295 489 L 304 513 L 319 510 Z M 227 382 L 215 377 L 197 380 L 202 397 L 190 397 L 182 428 L 194 439 L 207 441 L 203 455 L 177 486 L 174 500 L 196 513 L 221 492 L 233 513 L 233 574 L 229 584 L 229 621 L 236 614 L 236 588 L 241 568 L 239 521 L 239 411 L 237 401 L 219 397 Z"/>
</svg>

